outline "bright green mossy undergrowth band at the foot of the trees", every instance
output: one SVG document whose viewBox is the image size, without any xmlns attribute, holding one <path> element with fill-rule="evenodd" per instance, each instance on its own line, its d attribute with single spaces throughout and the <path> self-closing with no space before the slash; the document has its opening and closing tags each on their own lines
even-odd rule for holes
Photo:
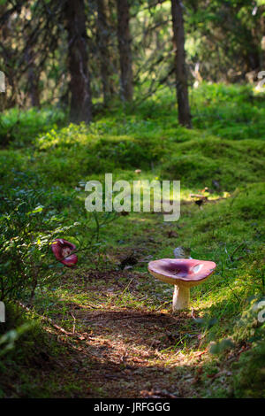
<svg viewBox="0 0 265 416">
<path fill-rule="evenodd" d="M 53 121 L 62 123 L 62 115 L 51 110 L 17 115 L 23 128 L 10 140 L 12 150 L 1 152 L 1 173 L 27 168 L 47 183 L 66 186 L 117 169 L 152 172 L 162 180 L 181 180 L 186 188 L 211 188 L 215 181 L 233 190 L 264 181 L 264 100 L 249 88 L 222 84 L 203 84 L 192 96 L 193 130 L 179 127 L 174 97 L 164 91 L 134 107 L 114 105 L 89 127 L 52 127 Z M 14 113 L 4 119 L 11 123 Z M 25 140 L 29 146 L 21 149 Z"/>
</svg>

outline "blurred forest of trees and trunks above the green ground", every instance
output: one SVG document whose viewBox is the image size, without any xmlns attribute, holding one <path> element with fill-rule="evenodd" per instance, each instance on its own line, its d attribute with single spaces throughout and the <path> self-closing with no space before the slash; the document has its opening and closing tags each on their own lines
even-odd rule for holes
<svg viewBox="0 0 265 416">
<path fill-rule="evenodd" d="M 92 101 L 96 111 L 118 96 L 142 101 L 174 89 L 172 16 L 181 13 L 189 85 L 254 82 L 265 65 L 264 7 L 262 0 L 2 1 L 2 109 L 53 104 L 88 122 Z"/>
</svg>

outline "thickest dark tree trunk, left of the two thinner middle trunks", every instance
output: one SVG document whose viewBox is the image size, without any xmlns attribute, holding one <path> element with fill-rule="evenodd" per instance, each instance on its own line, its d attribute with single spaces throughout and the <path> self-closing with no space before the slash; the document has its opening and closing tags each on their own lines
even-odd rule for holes
<svg viewBox="0 0 265 416">
<path fill-rule="evenodd" d="M 68 68 L 70 73 L 70 120 L 85 121 L 91 116 L 90 78 L 87 68 L 87 33 L 84 0 L 66 0 L 65 28 L 68 35 Z"/>
</svg>

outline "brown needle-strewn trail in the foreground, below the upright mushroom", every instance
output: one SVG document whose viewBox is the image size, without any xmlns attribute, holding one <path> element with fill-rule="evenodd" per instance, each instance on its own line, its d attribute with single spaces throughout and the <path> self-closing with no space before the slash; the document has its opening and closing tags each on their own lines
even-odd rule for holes
<svg viewBox="0 0 265 416">
<path fill-rule="evenodd" d="M 111 283 L 112 290 L 120 290 L 117 279 Z M 87 290 L 93 286 L 87 285 Z M 201 364 L 208 351 L 201 348 L 191 312 L 66 306 L 64 317 L 57 313 L 53 318 L 59 325 L 67 321 L 72 332 L 64 335 L 52 328 L 67 346 L 55 359 L 54 376 L 62 381 L 71 373 L 78 376 L 79 392 L 73 397 L 198 397 Z"/>
</svg>

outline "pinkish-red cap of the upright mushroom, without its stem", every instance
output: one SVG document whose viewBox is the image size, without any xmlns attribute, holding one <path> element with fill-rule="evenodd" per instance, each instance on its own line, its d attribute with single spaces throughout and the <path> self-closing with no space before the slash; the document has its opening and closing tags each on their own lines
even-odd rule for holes
<svg viewBox="0 0 265 416">
<path fill-rule="evenodd" d="M 160 281 L 192 288 L 208 279 L 216 263 L 194 258 L 161 258 L 150 261 L 148 270 Z"/>
</svg>

